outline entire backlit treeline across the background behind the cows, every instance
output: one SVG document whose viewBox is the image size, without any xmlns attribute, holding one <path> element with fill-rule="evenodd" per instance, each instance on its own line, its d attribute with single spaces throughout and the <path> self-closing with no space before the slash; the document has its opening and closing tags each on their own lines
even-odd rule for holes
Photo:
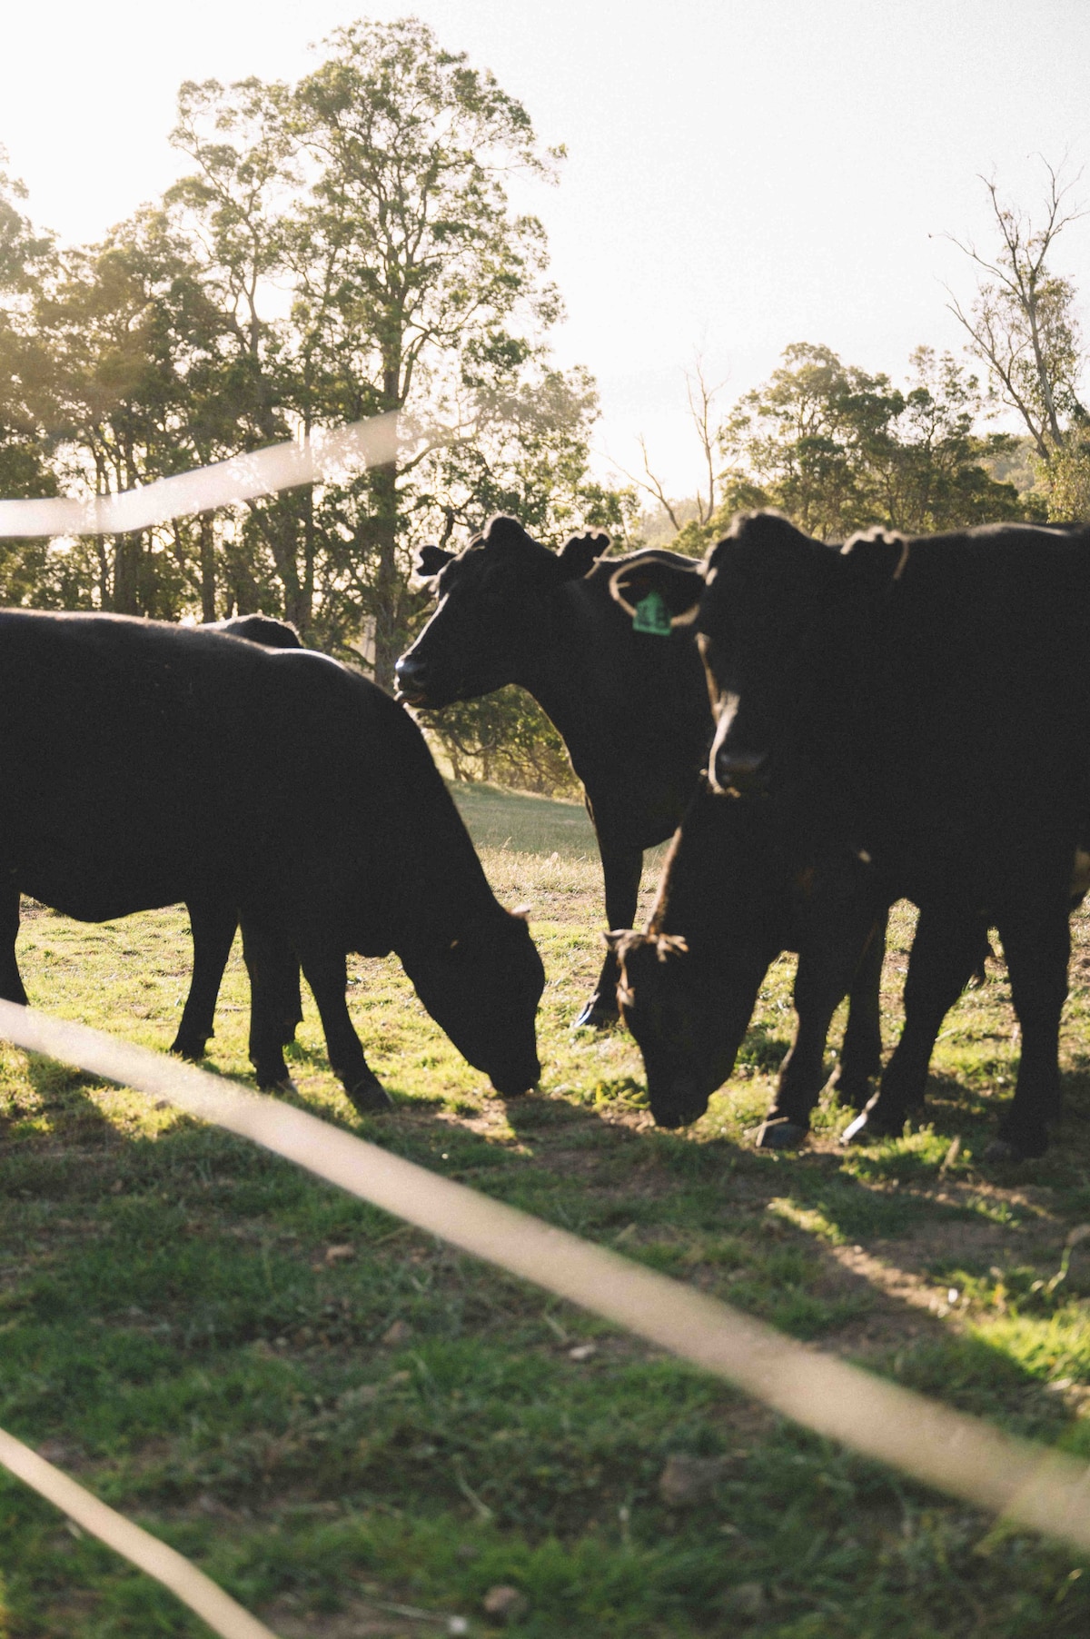
<svg viewBox="0 0 1090 1639">
<path fill-rule="evenodd" d="M 0 495 L 108 495 L 316 428 L 400 411 L 395 461 L 336 482 L 111 538 L 0 538 L 0 602 L 161 620 L 262 611 L 382 687 L 426 615 L 413 549 L 498 510 L 559 546 L 575 528 L 643 544 L 641 495 L 702 552 L 743 506 L 834 539 L 1090 503 L 1075 292 L 1052 277 L 1075 215 L 1049 172 L 1044 226 L 992 188 L 1000 249 L 956 308 L 970 369 L 921 347 L 908 385 L 797 344 L 718 415 L 690 406 L 703 490 L 590 470 L 592 375 L 562 370 L 541 223 L 513 174 L 549 179 L 526 110 L 416 20 L 356 23 L 295 85 L 185 84 L 185 175 L 98 244 L 34 226 L 0 170 Z M 692 387 L 693 384 L 690 384 Z M 998 400 L 1023 433 L 980 431 Z M 646 505 L 646 502 L 644 502 Z M 647 515 L 643 515 L 646 521 Z M 456 774 L 572 787 L 528 697 L 436 723 Z"/>
</svg>

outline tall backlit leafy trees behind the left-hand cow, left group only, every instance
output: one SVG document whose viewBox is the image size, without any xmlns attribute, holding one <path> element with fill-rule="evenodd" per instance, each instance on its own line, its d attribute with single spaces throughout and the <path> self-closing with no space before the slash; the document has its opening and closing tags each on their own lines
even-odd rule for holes
<svg viewBox="0 0 1090 1639">
<path fill-rule="evenodd" d="M 3 602 L 261 610 L 388 685 L 415 543 L 498 508 L 547 539 L 616 523 L 588 474 L 595 384 L 549 357 L 544 233 L 506 192 L 559 156 L 418 21 L 328 49 L 297 85 L 184 85 L 188 174 L 100 244 L 36 231 L 3 179 L 0 493 L 111 493 L 392 410 L 398 459 L 161 529 L 3 543 Z"/>
</svg>

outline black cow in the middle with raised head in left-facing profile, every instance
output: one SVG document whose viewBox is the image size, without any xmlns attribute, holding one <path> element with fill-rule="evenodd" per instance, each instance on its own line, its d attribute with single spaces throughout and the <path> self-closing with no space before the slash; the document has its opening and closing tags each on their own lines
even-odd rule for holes
<svg viewBox="0 0 1090 1639">
<path fill-rule="evenodd" d="M 675 829 L 708 752 L 708 690 L 692 638 L 669 620 L 633 623 L 610 597 L 620 564 L 684 567 L 675 552 L 597 562 L 610 538 L 572 536 L 561 552 L 497 516 L 462 552 L 426 546 L 418 574 L 439 600 L 397 662 L 411 706 L 518 683 L 541 705 L 584 783 L 605 877 L 610 928 L 631 926 L 646 847 Z M 616 1018 L 616 960 L 606 952 L 577 1024 Z"/>
</svg>

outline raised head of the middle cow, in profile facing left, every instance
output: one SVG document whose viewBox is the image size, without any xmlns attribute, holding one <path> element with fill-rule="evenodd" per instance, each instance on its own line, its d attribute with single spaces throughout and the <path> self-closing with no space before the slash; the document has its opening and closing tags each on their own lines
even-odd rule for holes
<svg viewBox="0 0 1090 1639">
<path fill-rule="evenodd" d="M 518 682 L 549 646 L 552 593 L 588 574 L 608 546 L 608 534 L 592 531 L 551 552 L 515 518 L 497 515 L 461 552 L 421 547 L 416 579 L 439 603 L 397 662 L 400 697 L 438 708 Z"/>
</svg>

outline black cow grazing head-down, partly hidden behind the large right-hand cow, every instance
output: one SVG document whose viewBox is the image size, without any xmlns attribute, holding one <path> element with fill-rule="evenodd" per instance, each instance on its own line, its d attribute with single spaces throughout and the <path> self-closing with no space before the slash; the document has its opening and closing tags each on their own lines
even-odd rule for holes
<svg viewBox="0 0 1090 1639">
<path fill-rule="evenodd" d="M 798 951 L 798 1028 L 759 1144 L 798 1144 L 821 1090 L 829 1019 L 851 1010 L 836 1090 L 861 1110 L 882 1067 L 879 982 L 885 919 L 854 854 L 800 867 L 775 805 L 702 788 L 674 838 L 646 933 L 610 934 L 621 1016 L 647 1072 L 659 1126 L 684 1126 L 731 1074 L 757 992 L 780 951 Z"/>
</svg>

